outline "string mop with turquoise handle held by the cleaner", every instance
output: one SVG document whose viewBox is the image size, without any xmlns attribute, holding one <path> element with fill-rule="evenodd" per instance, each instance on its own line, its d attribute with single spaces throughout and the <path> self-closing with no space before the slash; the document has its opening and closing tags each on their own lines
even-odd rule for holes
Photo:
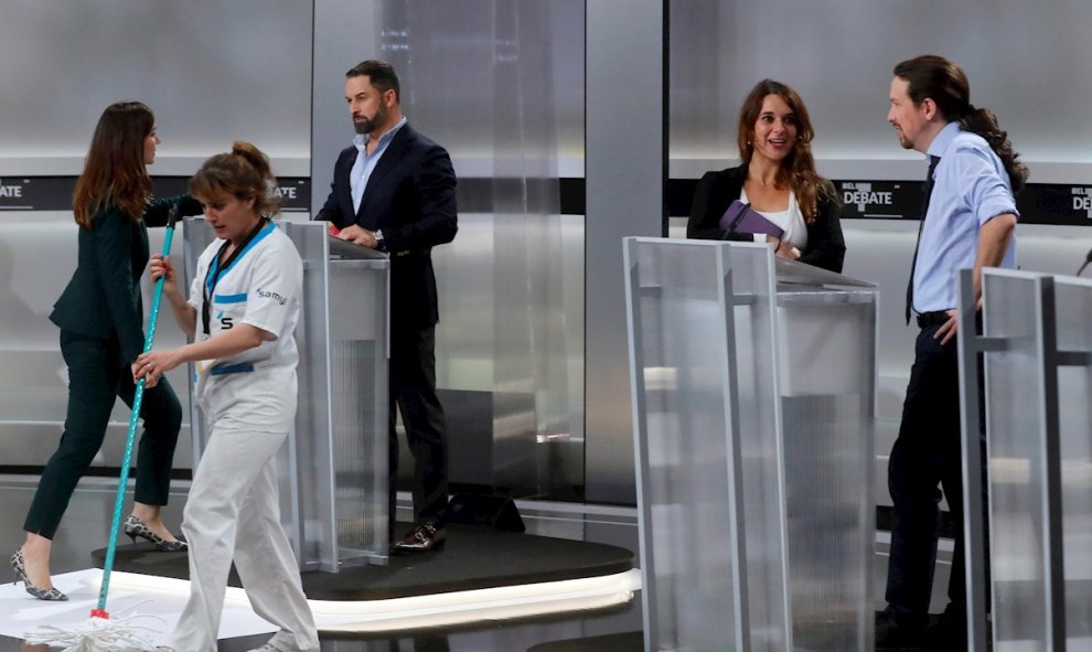
<svg viewBox="0 0 1092 652">
<path fill-rule="evenodd" d="M 167 218 L 167 234 L 163 239 L 163 257 L 171 254 L 171 239 L 174 236 L 174 223 L 178 220 L 178 204 L 171 207 Z M 156 322 L 159 321 L 159 303 L 163 297 L 165 276 L 156 281 L 152 296 L 151 316 L 148 318 L 148 334 L 144 336 L 144 353 L 151 351 L 152 340 L 156 339 Z M 140 406 L 144 397 L 144 378 L 137 381 L 137 389 L 132 397 L 132 416 L 129 417 L 129 432 L 125 440 L 125 455 L 121 458 L 121 477 L 118 480 L 118 491 L 114 500 L 114 521 L 110 523 L 110 536 L 107 539 L 106 562 L 103 564 L 103 582 L 98 589 L 98 605 L 92 609 L 90 618 L 74 630 L 62 630 L 53 626 L 44 626 L 40 631 L 25 635 L 25 642 L 32 644 L 66 645 L 63 652 L 131 652 L 151 650 L 153 643 L 141 632 L 156 630 L 138 626 L 133 621 L 151 618 L 163 622 L 154 616 L 129 616 L 110 619 L 106 610 L 106 596 L 110 589 L 110 571 L 114 568 L 114 553 L 117 548 L 118 530 L 121 526 L 121 507 L 125 506 L 125 490 L 129 482 L 129 462 L 132 458 L 132 442 L 137 435 L 140 420 Z M 136 606 L 135 606 L 136 607 Z"/>
</svg>

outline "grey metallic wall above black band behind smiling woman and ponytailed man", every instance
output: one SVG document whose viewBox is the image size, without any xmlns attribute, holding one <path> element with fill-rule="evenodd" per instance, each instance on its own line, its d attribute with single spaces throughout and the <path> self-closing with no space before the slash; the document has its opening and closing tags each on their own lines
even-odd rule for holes
<svg viewBox="0 0 1092 652">
<path fill-rule="evenodd" d="M 1092 42 L 1084 38 L 1090 23 L 1092 6 L 1083 0 L 1051 3 L 1050 11 L 1020 0 L 929 10 L 860 0 L 674 2 L 671 157 L 735 159 L 739 105 L 756 83 L 772 77 L 807 105 L 821 171 L 829 159 L 869 178 L 877 161 L 918 160 L 917 152 L 897 147 L 885 121 L 887 94 L 896 63 L 935 52 L 964 66 L 972 101 L 997 113 L 1025 158 L 1079 164 L 1086 179 L 1092 125 L 1079 110 L 1056 111 L 1049 125 L 1038 115 L 1042 97 L 1063 107 L 1086 101 L 1082 85 L 1058 84 L 1054 72 L 1092 77 Z"/>
</svg>

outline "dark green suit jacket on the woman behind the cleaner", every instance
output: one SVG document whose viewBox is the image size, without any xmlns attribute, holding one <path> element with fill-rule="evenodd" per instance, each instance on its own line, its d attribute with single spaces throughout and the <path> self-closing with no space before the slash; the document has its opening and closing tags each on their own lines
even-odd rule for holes
<svg viewBox="0 0 1092 652">
<path fill-rule="evenodd" d="M 95 214 L 93 228 L 79 228 L 76 271 L 53 304 L 50 320 L 61 330 L 110 340 L 117 338 L 125 361 L 144 348 L 140 277 L 148 266 L 148 227 L 167 224 L 171 206 L 179 215 L 196 215 L 201 203 L 190 195 L 156 200 L 140 220 L 118 206 Z"/>
</svg>

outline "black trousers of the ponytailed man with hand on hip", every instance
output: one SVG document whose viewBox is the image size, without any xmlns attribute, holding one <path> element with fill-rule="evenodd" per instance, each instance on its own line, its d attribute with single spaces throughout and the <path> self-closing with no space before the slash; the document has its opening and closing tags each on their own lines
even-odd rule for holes
<svg viewBox="0 0 1092 652">
<path fill-rule="evenodd" d="M 924 624 L 940 535 L 941 488 L 957 524 L 950 609 L 965 611 L 963 469 L 960 446 L 960 370 L 955 339 L 933 339 L 940 324 L 921 329 L 914 346 L 902 425 L 888 460 L 895 503 L 887 570 L 889 609 L 908 624 Z"/>
</svg>

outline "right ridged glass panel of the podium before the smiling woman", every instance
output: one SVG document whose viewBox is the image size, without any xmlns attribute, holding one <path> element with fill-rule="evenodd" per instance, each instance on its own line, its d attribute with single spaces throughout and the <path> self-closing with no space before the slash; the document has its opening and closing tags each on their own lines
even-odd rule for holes
<svg viewBox="0 0 1092 652">
<path fill-rule="evenodd" d="M 870 649 L 876 292 L 778 298 L 793 645 Z"/>
</svg>

